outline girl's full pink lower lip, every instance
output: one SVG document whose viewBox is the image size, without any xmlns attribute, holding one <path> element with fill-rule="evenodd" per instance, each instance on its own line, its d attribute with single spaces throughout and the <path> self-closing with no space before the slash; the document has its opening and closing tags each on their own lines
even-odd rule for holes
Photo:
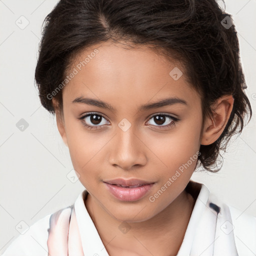
<svg viewBox="0 0 256 256">
<path fill-rule="evenodd" d="M 154 183 L 138 187 L 121 187 L 104 182 L 111 194 L 122 201 L 136 201 L 144 196 Z"/>
</svg>

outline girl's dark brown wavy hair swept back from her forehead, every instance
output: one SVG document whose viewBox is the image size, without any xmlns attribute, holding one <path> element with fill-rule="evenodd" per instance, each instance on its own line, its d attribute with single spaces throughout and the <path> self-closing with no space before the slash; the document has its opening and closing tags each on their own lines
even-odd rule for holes
<svg viewBox="0 0 256 256">
<path fill-rule="evenodd" d="M 224 27 L 227 23 L 230 27 Z M 210 172 L 220 150 L 252 115 L 244 93 L 239 43 L 231 15 L 214 0 L 60 0 L 45 17 L 35 81 L 41 104 L 54 115 L 51 93 L 64 81 L 80 50 L 105 41 L 145 45 L 183 63 L 186 79 L 200 95 L 203 120 L 212 103 L 232 95 L 227 124 L 213 143 L 200 145 L 197 164 Z M 62 92 L 54 98 L 62 109 Z M 222 157 L 222 156 L 221 156 Z M 223 157 L 222 157 L 223 158 Z"/>
</svg>

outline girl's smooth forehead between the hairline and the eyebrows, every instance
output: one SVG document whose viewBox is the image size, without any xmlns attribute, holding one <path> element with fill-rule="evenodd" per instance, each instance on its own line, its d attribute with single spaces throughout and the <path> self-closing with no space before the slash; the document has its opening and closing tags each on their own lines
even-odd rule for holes
<svg viewBox="0 0 256 256">
<path fill-rule="evenodd" d="M 178 61 L 167 60 L 144 45 L 95 44 L 73 58 L 67 75 L 75 74 L 63 88 L 63 101 L 89 96 L 140 105 L 172 96 L 189 104 L 199 96 L 186 81 L 184 71 Z"/>
</svg>

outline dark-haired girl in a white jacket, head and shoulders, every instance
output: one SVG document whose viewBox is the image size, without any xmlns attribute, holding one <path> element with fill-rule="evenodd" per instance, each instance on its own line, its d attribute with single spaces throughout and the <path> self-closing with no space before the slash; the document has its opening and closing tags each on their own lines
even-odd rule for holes
<svg viewBox="0 0 256 256">
<path fill-rule="evenodd" d="M 35 80 L 85 189 L 3 255 L 255 254 L 255 217 L 190 180 L 251 116 L 238 53 L 214 0 L 60 0 Z"/>
</svg>

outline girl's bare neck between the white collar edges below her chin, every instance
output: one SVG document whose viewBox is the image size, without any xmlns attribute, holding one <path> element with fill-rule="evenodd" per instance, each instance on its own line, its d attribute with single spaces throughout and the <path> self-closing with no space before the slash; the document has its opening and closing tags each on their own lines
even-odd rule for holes
<svg viewBox="0 0 256 256">
<path fill-rule="evenodd" d="M 109 255 L 135 256 L 148 255 L 150 252 L 153 255 L 169 256 L 178 252 L 194 202 L 191 194 L 183 190 L 152 218 L 128 222 L 131 228 L 127 233 L 118 229 L 122 221 L 110 216 L 90 194 L 84 203 Z"/>
</svg>

